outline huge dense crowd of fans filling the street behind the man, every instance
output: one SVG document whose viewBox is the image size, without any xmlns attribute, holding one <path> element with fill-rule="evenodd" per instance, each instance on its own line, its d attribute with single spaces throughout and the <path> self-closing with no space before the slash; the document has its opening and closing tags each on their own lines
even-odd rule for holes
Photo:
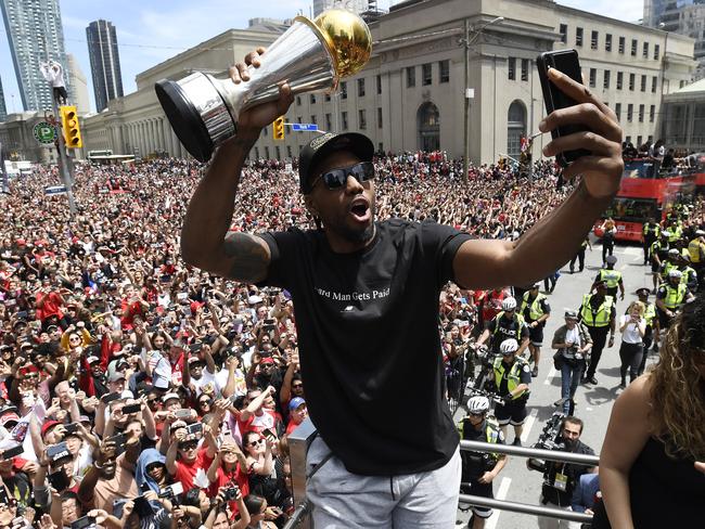
<svg viewBox="0 0 705 529">
<path fill-rule="evenodd" d="M 375 169 L 379 219 L 478 237 L 518 238 L 572 189 L 549 163 L 530 178 L 473 167 L 467 182 L 443 153 L 381 156 Z M 55 168 L 0 198 L 0 526 L 273 528 L 291 515 L 287 436 L 307 416 L 291 296 L 181 260 L 203 170 L 78 165 L 73 217 L 44 193 Z M 315 228 L 295 178 L 252 160 L 231 230 Z M 499 312 L 491 298 L 441 293 L 449 365 Z"/>
</svg>

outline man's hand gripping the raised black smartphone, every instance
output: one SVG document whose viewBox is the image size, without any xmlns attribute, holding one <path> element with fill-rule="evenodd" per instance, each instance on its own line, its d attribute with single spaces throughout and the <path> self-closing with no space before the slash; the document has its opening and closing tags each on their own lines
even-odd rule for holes
<svg viewBox="0 0 705 529">
<path fill-rule="evenodd" d="M 549 81 L 569 95 L 577 105 L 559 108 L 539 124 L 541 132 L 556 127 L 580 124 L 590 131 L 575 132 L 556 138 L 543 147 L 544 156 L 555 156 L 564 151 L 585 149 L 591 154 L 582 156 L 563 171 L 566 179 L 582 176 L 588 193 L 594 198 L 606 198 L 619 189 L 624 170 L 621 159 L 621 128 L 615 113 L 581 83 L 571 79 L 555 68 L 549 69 Z"/>
</svg>

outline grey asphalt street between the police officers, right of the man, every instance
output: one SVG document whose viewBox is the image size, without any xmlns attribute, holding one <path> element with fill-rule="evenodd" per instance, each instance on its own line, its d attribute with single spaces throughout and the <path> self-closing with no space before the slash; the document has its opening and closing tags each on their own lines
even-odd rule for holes
<svg viewBox="0 0 705 529">
<path fill-rule="evenodd" d="M 642 266 L 641 247 L 637 245 L 616 246 L 614 255 L 618 258 L 615 269 L 621 271 L 625 283 L 625 300 L 617 301 L 618 317 L 626 310 L 628 304 L 637 298 L 634 291 L 641 286 L 651 288 L 652 280 L 651 269 Z M 531 396 L 527 405 L 529 415 L 522 436 L 525 447 L 536 442 L 543 423 L 555 411 L 553 403 L 561 397 L 561 375 L 553 369 L 554 351 L 550 348 L 553 333 L 564 323 L 563 312 L 565 309 L 578 309 L 580 306 L 582 294 L 589 291 L 592 280 L 600 270 L 601 256 L 600 243 L 593 244 L 592 251 L 589 249 L 586 251 L 586 269 L 581 273 L 571 274 L 567 264 L 563 267 L 555 291 L 548 295 L 552 315 L 544 328 L 539 376 L 534 378 L 531 384 Z M 543 292 L 542 287 L 541 292 Z M 650 297 L 650 301 L 653 301 L 653 296 Z M 618 396 L 619 341 L 619 330 L 617 328 L 614 346 L 612 348 L 605 346 L 603 351 L 595 375 L 599 384 L 597 386 L 580 386 L 576 395 L 575 414 L 585 421 L 581 440 L 595 453 L 599 453 L 602 447 L 612 404 Z M 655 357 L 650 357 L 648 365 L 654 359 Z M 512 440 L 513 433 L 510 427 L 509 442 Z M 513 502 L 537 504 L 541 493 L 541 474 L 526 468 L 526 459 L 511 457 L 495 480 L 495 496 Z M 459 512 L 459 520 L 466 521 L 469 518 L 470 513 Z M 538 525 L 534 516 L 496 511 L 485 527 L 486 529 L 535 529 Z"/>
</svg>

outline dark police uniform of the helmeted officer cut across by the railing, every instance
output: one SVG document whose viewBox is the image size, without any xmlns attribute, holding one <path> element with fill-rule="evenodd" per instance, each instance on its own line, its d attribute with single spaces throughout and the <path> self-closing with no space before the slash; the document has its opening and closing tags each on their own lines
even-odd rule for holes
<svg viewBox="0 0 705 529">
<path fill-rule="evenodd" d="M 469 417 L 464 417 L 458 423 L 458 431 L 460 433 L 461 439 L 465 441 L 504 444 L 504 435 L 495 421 L 485 420 L 482 427 L 477 430 L 470 423 Z M 486 472 L 491 472 L 495 468 L 501 455 L 497 453 L 461 450 L 460 457 L 462 461 L 460 492 L 462 494 L 472 494 L 482 498 L 495 498 L 492 483 L 480 483 L 478 479 Z M 492 515 L 492 509 L 489 507 L 473 505 L 472 511 L 478 518 L 489 518 Z"/>
</svg>

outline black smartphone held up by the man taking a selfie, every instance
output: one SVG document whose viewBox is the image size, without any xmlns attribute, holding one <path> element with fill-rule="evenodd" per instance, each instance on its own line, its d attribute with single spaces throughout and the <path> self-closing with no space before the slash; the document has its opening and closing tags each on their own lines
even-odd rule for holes
<svg viewBox="0 0 705 529">
<path fill-rule="evenodd" d="M 541 80 L 541 91 L 543 92 L 543 103 L 546 105 L 547 115 L 551 114 L 553 111 L 557 111 L 559 108 L 567 108 L 568 106 L 578 104 L 578 102 L 573 98 L 559 90 L 559 88 L 553 85 L 548 77 L 549 68 L 555 68 L 564 75 L 567 75 L 571 79 L 582 85 L 580 62 L 578 61 L 577 51 L 556 50 L 543 52 L 536 59 L 536 66 L 539 70 L 539 79 Z M 555 140 L 556 138 L 587 130 L 589 129 L 582 125 L 565 125 L 551 130 L 551 137 Z M 575 151 L 559 153 L 555 155 L 555 159 L 561 164 L 561 166 L 567 167 L 572 162 L 590 154 L 590 151 L 578 149 Z"/>
</svg>

